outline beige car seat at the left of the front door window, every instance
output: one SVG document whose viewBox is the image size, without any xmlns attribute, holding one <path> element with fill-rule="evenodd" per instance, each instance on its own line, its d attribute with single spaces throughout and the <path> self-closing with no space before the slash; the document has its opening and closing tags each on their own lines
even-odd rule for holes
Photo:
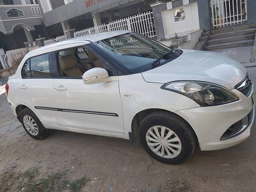
<svg viewBox="0 0 256 192">
<path fill-rule="evenodd" d="M 80 68 L 76 67 L 76 60 L 71 55 L 60 57 L 60 69 L 63 76 L 78 77 L 83 75 Z"/>
</svg>

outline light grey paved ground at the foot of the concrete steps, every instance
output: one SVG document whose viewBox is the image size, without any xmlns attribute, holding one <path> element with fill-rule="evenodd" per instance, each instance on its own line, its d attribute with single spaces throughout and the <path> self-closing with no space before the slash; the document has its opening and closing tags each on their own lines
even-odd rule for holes
<svg viewBox="0 0 256 192">
<path fill-rule="evenodd" d="M 239 62 L 245 63 L 245 62 L 250 62 L 251 60 L 252 48 L 253 46 L 236 47 L 236 48 L 229 48 L 229 49 L 213 50 L 212 52 L 222 53 Z"/>
</svg>

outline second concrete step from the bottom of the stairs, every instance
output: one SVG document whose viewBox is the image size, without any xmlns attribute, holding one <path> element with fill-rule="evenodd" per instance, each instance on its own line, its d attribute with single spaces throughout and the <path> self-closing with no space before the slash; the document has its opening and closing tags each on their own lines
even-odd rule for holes
<svg viewBox="0 0 256 192">
<path fill-rule="evenodd" d="M 222 44 L 222 43 L 228 43 L 228 42 L 251 40 L 251 39 L 254 39 L 254 37 L 255 37 L 255 33 L 248 34 L 248 35 L 225 37 L 220 39 L 213 39 L 213 40 L 208 40 L 207 45 L 216 45 L 216 44 Z"/>
</svg>

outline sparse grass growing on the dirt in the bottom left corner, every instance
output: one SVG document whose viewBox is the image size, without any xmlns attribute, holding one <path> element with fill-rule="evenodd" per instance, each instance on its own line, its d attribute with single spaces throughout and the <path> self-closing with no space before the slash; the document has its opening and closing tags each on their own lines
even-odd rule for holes
<svg viewBox="0 0 256 192">
<path fill-rule="evenodd" d="M 10 171 L 0 176 L 0 192 L 21 190 L 23 192 L 61 192 L 63 190 L 80 192 L 88 181 L 89 179 L 85 176 L 71 181 L 67 171 L 40 177 L 38 168 L 32 167 L 22 174 Z"/>
</svg>

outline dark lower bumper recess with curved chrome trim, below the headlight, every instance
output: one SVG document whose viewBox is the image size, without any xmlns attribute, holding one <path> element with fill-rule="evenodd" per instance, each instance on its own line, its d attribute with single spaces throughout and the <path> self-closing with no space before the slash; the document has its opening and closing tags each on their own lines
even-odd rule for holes
<svg viewBox="0 0 256 192">
<path fill-rule="evenodd" d="M 254 116 L 254 108 L 252 108 L 252 110 L 248 115 L 246 115 L 240 121 L 230 126 L 221 136 L 220 140 L 230 139 L 234 136 L 241 134 L 244 130 L 246 130 L 246 128 L 248 128 L 248 126 L 252 124 L 253 116 Z"/>
</svg>

